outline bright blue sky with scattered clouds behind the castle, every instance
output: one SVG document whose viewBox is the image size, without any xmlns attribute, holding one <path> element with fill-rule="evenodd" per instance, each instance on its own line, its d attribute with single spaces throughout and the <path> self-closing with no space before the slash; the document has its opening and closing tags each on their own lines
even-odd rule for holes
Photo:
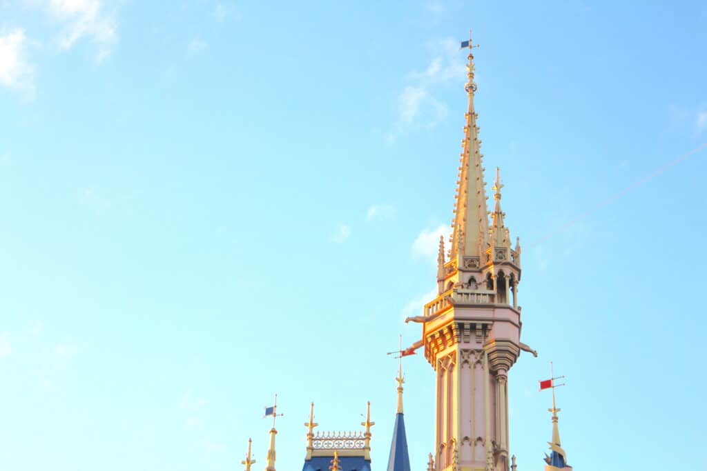
<svg viewBox="0 0 707 471">
<path fill-rule="evenodd" d="M 448 231 L 474 31 L 486 181 L 522 244 L 510 451 L 707 460 L 704 1 L 0 0 L 0 468 L 387 464 Z M 689 288 L 689 289 L 688 289 Z M 413 470 L 433 371 L 405 359 Z"/>
</svg>

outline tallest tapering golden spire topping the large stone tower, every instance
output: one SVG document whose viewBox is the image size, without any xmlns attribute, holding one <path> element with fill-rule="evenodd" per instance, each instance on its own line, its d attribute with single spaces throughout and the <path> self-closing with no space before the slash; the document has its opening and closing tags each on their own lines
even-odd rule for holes
<svg viewBox="0 0 707 471">
<path fill-rule="evenodd" d="M 462 141 L 462 158 L 457 181 L 455 217 L 452 225 L 452 246 L 450 254 L 457 259 L 457 266 L 462 265 L 464 256 L 478 257 L 477 267 L 486 263 L 486 248 L 489 246 L 489 216 L 486 210 L 486 191 L 484 189 L 484 169 L 481 167 L 481 141 L 477 126 L 477 114 L 474 112 L 474 55 L 471 33 L 469 33 L 469 64 L 467 64 L 467 90 L 469 108 L 467 109 Z"/>
</svg>

